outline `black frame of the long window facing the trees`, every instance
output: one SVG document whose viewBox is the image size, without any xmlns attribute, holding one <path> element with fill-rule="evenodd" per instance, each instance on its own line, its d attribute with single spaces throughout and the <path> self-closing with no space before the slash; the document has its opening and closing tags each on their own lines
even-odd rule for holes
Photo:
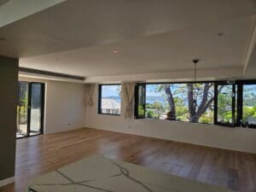
<svg viewBox="0 0 256 192">
<path fill-rule="evenodd" d="M 138 86 L 143 85 L 145 88 L 145 100 L 146 100 L 146 85 L 147 84 L 204 84 L 204 83 L 213 83 L 214 85 L 214 114 L 213 114 L 213 124 L 205 124 L 205 125 L 222 125 L 227 127 L 238 127 L 241 126 L 241 119 L 242 119 L 242 91 L 243 91 L 243 85 L 244 84 L 256 84 L 256 79 L 238 79 L 234 82 L 232 81 L 183 81 L 183 82 L 143 82 L 143 83 L 137 83 L 135 87 L 135 105 L 134 105 L 134 112 L 135 112 L 135 119 L 148 119 L 146 118 L 146 115 L 144 114 L 144 117 L 138 116 L 137 111 L 137 98 L 138 98 Z M 232 99 L 232 114 L 233 114 L 233 124 L 225 124 L 225 123 L 219 123 L 217 121 L 217 115 L 218 115 L 218 84 L 232 84 L 233 85 L 233 94 L 235 94 L 234 98 Z M 237 90 L 236 90 L 237 89 Z M 146 103 L 145 103 L 146 104 Z M 146 105 L 143 106 L 144 111 L 146 113 Z M 187 121 L 179 121 L 179 120 L 171 120 L 171 121 L 178 121 L 178 122 L 185 122 L 185 123 L 194 123 L 194 122 L 187 122 Z M 199 123 L 204 124 L 204 123 Z M 256 126 L 256 125 L 255 125 Z M 254 128 L 254 127 L 250 127 Z"/>
</svg>

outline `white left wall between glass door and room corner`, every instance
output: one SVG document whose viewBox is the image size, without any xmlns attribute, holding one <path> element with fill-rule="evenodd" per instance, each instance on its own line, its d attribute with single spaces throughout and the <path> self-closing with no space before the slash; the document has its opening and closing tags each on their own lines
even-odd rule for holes
<svg viewBox="0 0 256 192">
<path fill-rule="evenodd" d="M 19 78 L 45 83 L 44 133 L 84 127 L 84 84 Z"/>
</svg>

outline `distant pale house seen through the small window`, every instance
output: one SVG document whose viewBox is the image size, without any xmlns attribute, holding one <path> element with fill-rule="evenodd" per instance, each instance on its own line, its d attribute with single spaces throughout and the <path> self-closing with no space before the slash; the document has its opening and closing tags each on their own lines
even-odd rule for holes
<svg viewBox="0 0 256 192">
<path fill-rule="evenodd" d="M 102 113 L 119 114 L 121 104 L 113 99 L 102 98 Z"/>
</svg>

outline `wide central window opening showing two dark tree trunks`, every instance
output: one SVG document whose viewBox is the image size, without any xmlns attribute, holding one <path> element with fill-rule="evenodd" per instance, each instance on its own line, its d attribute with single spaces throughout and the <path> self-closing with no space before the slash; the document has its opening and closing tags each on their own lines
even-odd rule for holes
<svg viewBox="0 0 256 192">
<path fill-rule="evenodd" d="M 145 117 L 213 123 L 212 83 L 146 84 L 145 89 Z"/>
</svg>

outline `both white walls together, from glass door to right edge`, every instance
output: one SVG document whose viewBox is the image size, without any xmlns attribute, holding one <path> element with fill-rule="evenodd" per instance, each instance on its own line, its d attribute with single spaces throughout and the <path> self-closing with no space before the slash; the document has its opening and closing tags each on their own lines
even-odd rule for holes
<svg viewBox="0 0 256 192">
<path fill-rule="evenodd" d="M 97 114 L 97 87 L 94 92 L 95 105 L 85 108 L 84 84 L 25 78 L 20 80 L 46 83 L 45 133 L 90 127 L 256 154 L 255 129 L 157 119 L 124 119 L 123 116 Z"/>
</svg>

